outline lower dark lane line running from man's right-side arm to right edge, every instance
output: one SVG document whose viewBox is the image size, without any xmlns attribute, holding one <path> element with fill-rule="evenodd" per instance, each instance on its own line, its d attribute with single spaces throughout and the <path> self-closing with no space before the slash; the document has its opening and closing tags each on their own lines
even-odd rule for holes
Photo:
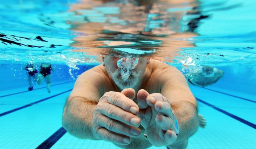
<svg viewBox="0 0 256 149">
<path fill-rule="evenodd" d="M 205 101 L 203 101 L 201 99 L 198 99 L 198 98 L 196 98 L 196 99 L 197 99 L 197 101 L 200 101 L 201 103 L 204 103 L 205 105 L 208 105 L 211 108 L 214 108 L 215 110 L 217 110 L 219 112 L 222 112 L 223 114 L 226 114 L 229 117 L 232 117 L 233 119 L 236 119 L 237 121 L 240 121 L 240 122 L 246 124 L 247 126 L 250 126 L 250 127 L 254 128 L 254 129 L 256 129 L 256 124 L 253 124 L 253 123 L 251 123 L 249 121 L 246 121 L 245 119 L 242 119 L 241 117 L 238 117 L 238 116 L 233 115 L 233 114 L 231 114 L 229 112 L 226 112 L 225 110 L 222 110 L 222 109 L 218 108 L 217 106 L 211 105 L 210 103 L 207 103 L 207 102 L 205 102 Z"/>
</svg>

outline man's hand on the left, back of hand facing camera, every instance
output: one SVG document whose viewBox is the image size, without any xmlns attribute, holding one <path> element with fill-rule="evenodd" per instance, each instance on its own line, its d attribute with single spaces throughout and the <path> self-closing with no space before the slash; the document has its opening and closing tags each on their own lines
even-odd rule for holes
<svg viewBox="0 0 256 149">
<path fill-rule="evenodd" d="M 140 135 L 139 106 L 132 100 L 135 90 L 106 92 L 99 100 L 92 119 L 96 139 L 119 145 L 130 143 L 130 137 Z"/>
</svg>

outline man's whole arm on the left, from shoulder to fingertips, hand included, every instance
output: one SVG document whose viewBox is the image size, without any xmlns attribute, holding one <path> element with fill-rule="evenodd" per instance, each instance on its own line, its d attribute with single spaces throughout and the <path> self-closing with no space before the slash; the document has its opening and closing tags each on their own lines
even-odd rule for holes
<svg viewBox="0 0 256 149">
<path fill-rule="evenodd" d="M 136 116 L 139 107 L 131 100 L 135 90 L 103 91 L 103 87 L 110 87 L 105 83 L 109 80 L 101 69 L 93 70 L 76 81 L 64 108 L 62 125 L 75 137 L 128 145 L 131 138 L 140 135 L 140 119 Z"/>
</svg>

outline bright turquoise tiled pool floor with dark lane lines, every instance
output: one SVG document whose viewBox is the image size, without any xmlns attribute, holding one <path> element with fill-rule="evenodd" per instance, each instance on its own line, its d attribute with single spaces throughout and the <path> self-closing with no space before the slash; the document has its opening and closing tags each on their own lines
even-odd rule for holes
<svg viewBox="0 0 256 149">
<path fill-rule="evenodd" d="M 0 91 L 0 148 L 119 149 L 110 142 L 75 138 L 62 128 L 62 110 L 73 83 L 57 82 L 50 94 L 46 88 Z M 189 138 L 187 149 L 255 148 L 256 96 L 213 87 L 191 90 L 207 126 Z"/>
</svg>

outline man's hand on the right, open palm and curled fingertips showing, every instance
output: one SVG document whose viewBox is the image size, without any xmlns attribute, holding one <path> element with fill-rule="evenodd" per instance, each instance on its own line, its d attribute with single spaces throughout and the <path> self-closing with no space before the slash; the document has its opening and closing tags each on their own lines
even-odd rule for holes
<svg viewBox="0 0 256 149">
<path fill-rule="evenodd" d="M 175 133 L 175 116 L 169 101 L 160 93 L 149 94 L 146 90 L 139 90 L 137 94 L 137 115 L 141 125 L 146 130 L 149 142 L 155 146 L 173 144 L 177 135 Z"/>
</svg>

